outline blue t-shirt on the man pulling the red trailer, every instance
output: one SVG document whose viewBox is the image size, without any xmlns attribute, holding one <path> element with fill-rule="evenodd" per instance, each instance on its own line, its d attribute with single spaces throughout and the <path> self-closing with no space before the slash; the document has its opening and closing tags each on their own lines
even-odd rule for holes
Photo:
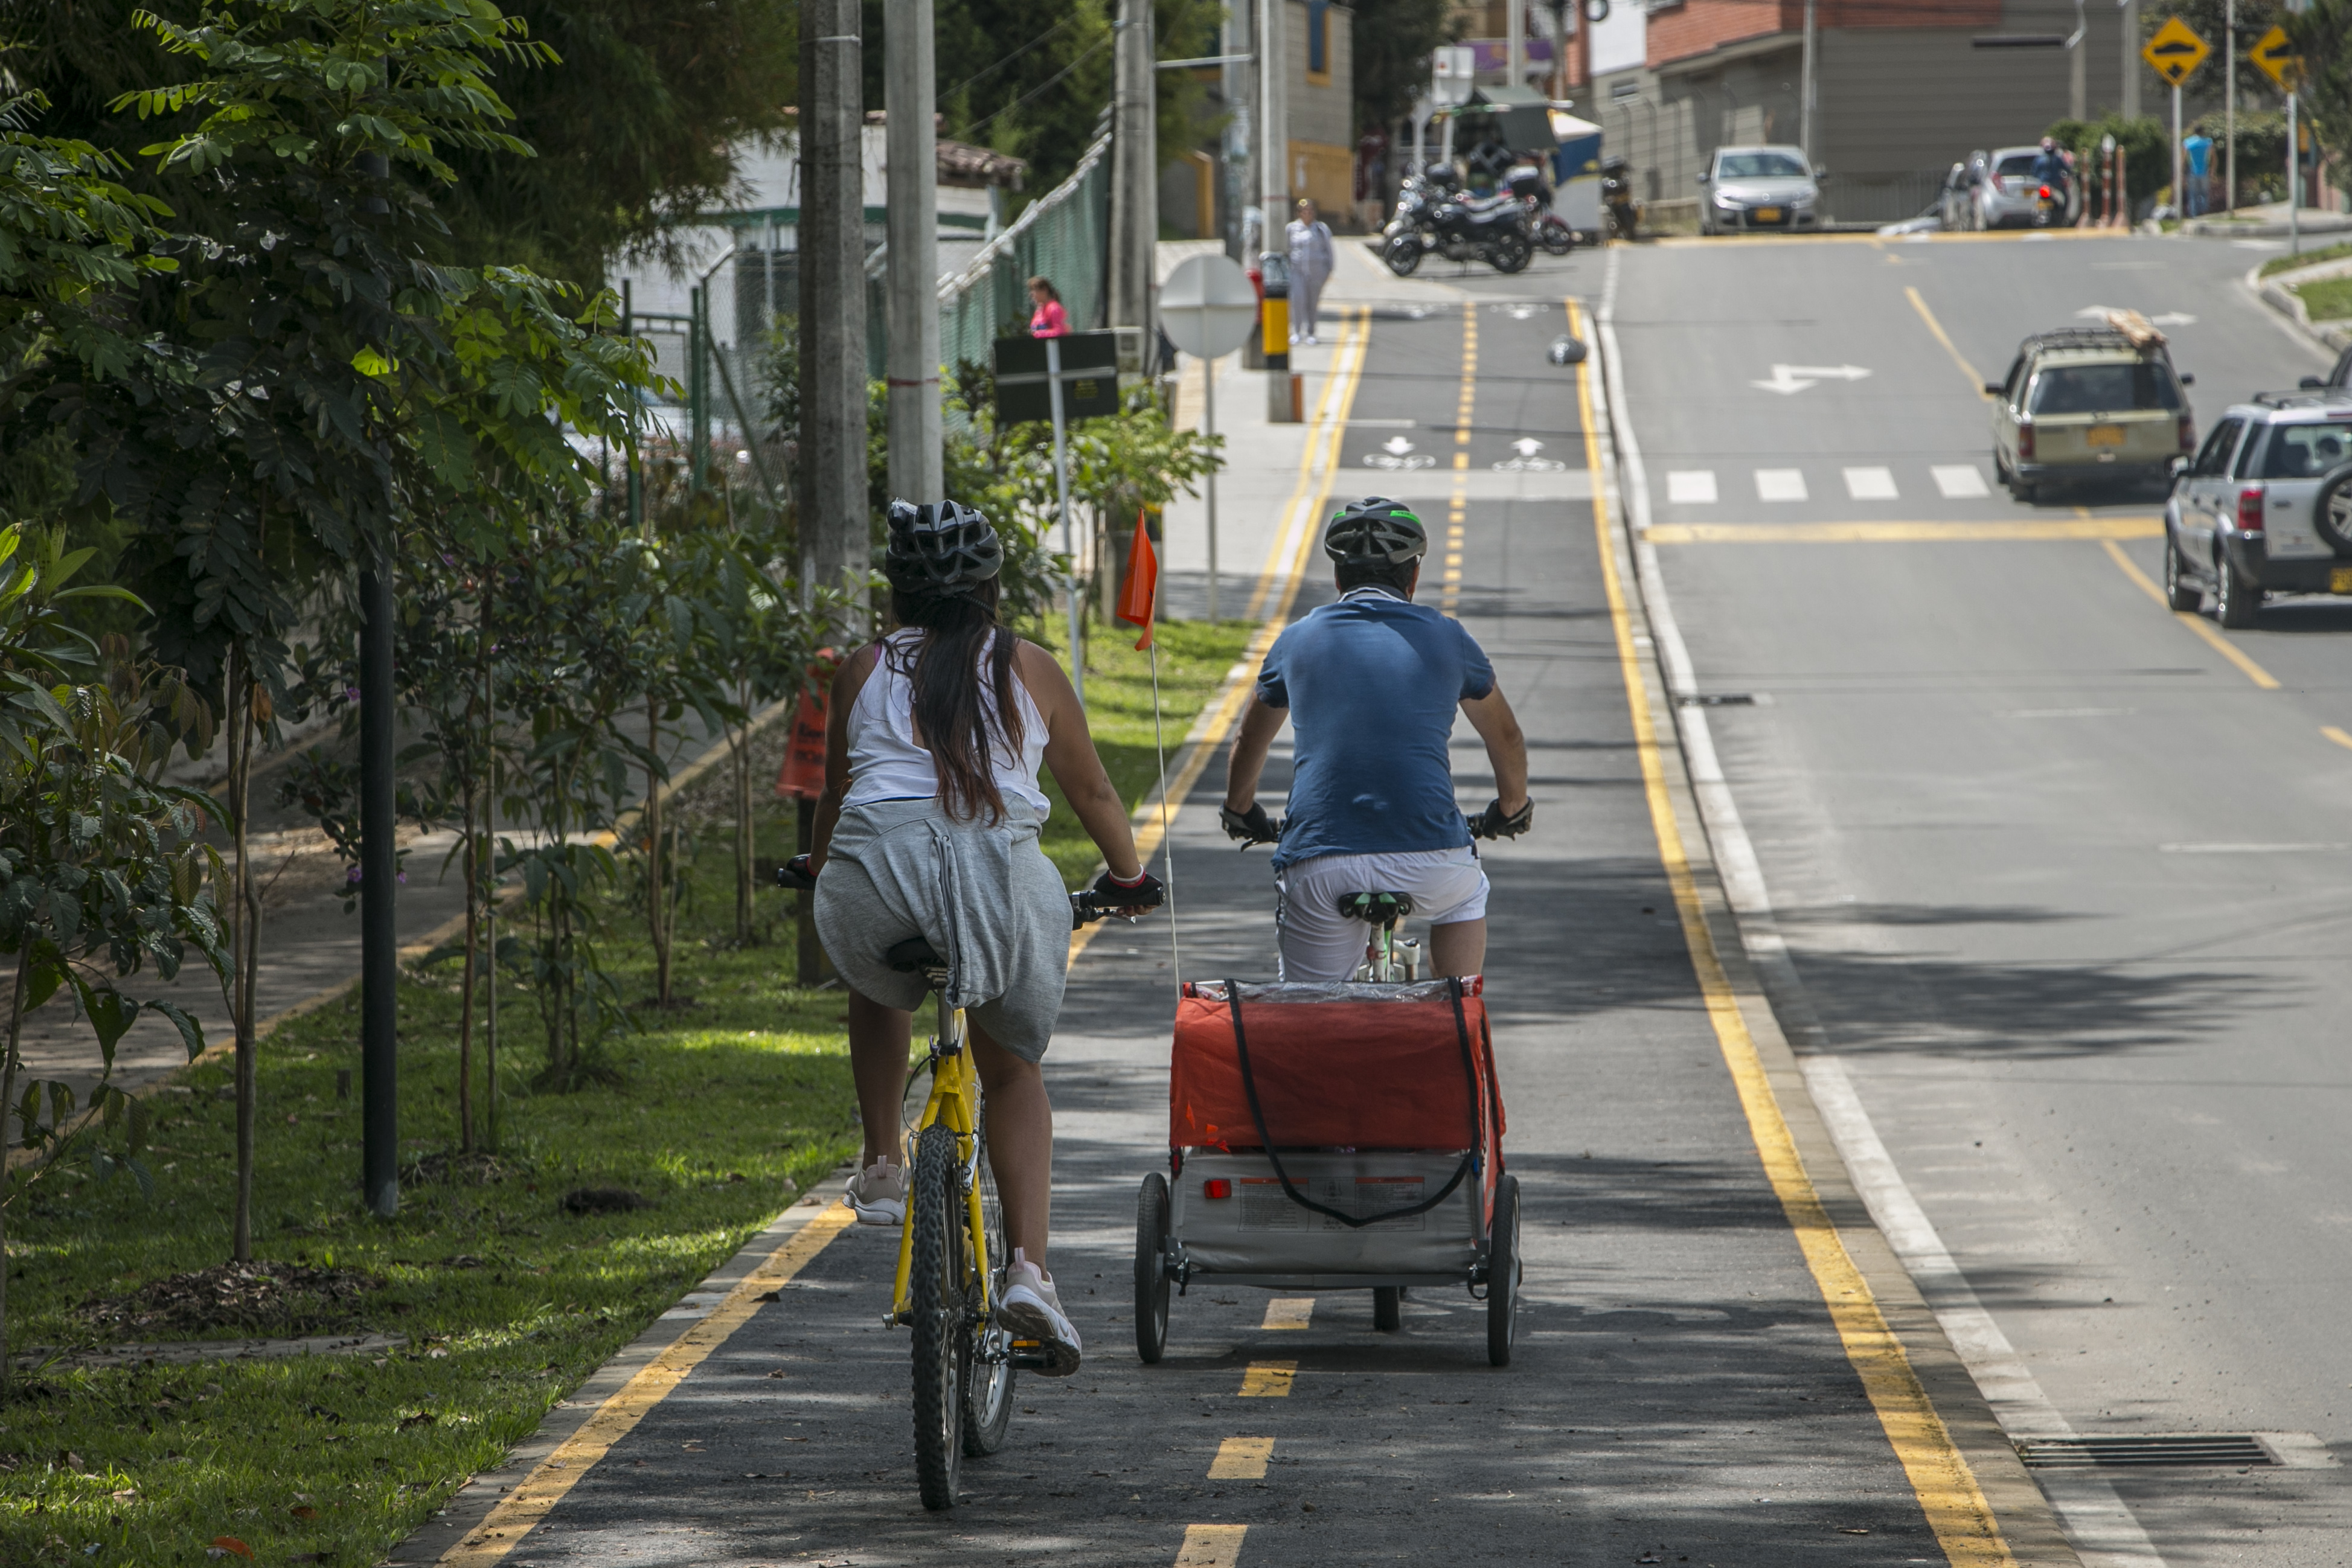
<svg viewBox="0 0 2352 1568">
<path fill-rule="evenodd" d="M 1461 621 L 1385 592 L 1324 604 L 1279 637 L 1258 698 L 1291 710 L 1291 804 L 1275 867 L 1317 856 L 1461 849 L 1446 741 L 1494 665 Z"/>
</svg>

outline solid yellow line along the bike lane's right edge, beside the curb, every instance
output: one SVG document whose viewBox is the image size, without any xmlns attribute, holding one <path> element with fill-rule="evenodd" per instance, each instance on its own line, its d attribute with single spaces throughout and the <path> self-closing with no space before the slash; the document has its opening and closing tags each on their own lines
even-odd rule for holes
<svg viewBox="0 0 2352 1568">
<path fill-rule="evenodd" d="M 1576 331 L 1576 308 L 1569 310 L 1569 331 Z M 1602 473 L 1599 435 L 1592 428 L 1592 378 L 1590 367 L 1576 367 L 1576 402 L 1585 423 L 1585 463 Z M 1658 755 L 1658 733 L 1651 726 L 1649 684 L 1642 675 L 1642 656 L 1632 642 L 1632 618 L 1625 604 L 1625 585 L 1618 578 L 1616 536 L 1609 524 L 1606 489 L 1592 487 L 1592 531 L 1602 552 L 1602 585 L 1609 595 L 1609 618 L 1616 625 L 1618 665 L 1625 679 L 1625 703 L 1632 712 L 1635 750 L 1642 759 L 1642 785 L 1649 795 L 1649 820 L 1658 835 L 1658 860 L 1675 891 L 1675 910 L 1682 914 L 1682 936 L 1691 950 L 1691 966 L 1698 971 L 1698 987 L 1708 1004 L 1708 1020 L 1715 1025 L 1717 1046 L 1731 1070 L 1731 1081 L 1748 1114 L 1748 1131 L 1755 1138 L 1764 1175 L 1780 1199 L 1804 1262 L 1813 1272 L 1820 1300 L 1830 1309 L 1830 1324 L 1846 1349 L 1863 1382 L 1870 1406 L 1879 1415 L 1879 1427 L 1910 1479 L 1912 1495 L 1926 1514 L 1929 1528 L 1943 1547 L 1952 1568 L 2016 1568 L 2002 1526 L 1985 1502 L 1983 1488 L 1966 1455 L 1952 1441 L 1933 1401 L 1919 1385 L 1910 1356 L 1886 1316 L 1879 1312 L 1870 1281 L 1846 1255 L 1846 1244 L 1837 1234 L 1813 1178 L 1804 1171 L 1797 1140 L 1780 1117 L 1771 1079 L 1757 1056 L 1748 1020 L 1740 1018 L 1738 997 L 1724 973 L 1715 936 L 1708 931 L 1705 912 L 1698 903 L 1698 884 L 1682 849 L 1682 827 L 1675 823 L 1675 802 L 1665 790 L 1665 762 Z"/>
</svg>

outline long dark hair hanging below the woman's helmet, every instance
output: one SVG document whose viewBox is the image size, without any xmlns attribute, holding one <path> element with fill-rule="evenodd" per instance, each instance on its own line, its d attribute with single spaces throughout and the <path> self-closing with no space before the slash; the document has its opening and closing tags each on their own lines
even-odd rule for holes
<svg viewBox="0 0 2352 1568">
<path fill-rule="evenodd" d="M 938 804 L 955 820 L 1004 820 L 993 752 L 1021 755 L 1021 698 L 1014 691 L 1014 644 L 997 621 L 997 583 L 974 583 L 957 592 L 889 590 L 889 614 L 898 625 L 922 630 L 915 646 L 882 644 L 882 658 L 915 691 L 915 741 L 938 766 Z M 995 703 L 981 701 L 974 679 L 988 649 L 985 684 Z"/>
</svg>

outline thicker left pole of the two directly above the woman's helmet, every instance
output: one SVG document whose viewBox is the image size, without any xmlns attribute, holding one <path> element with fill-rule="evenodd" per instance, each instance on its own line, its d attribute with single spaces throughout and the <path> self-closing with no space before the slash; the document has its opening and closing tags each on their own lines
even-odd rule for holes
<svg viewBox="0 0 2352 1568">
<path fill-rule="evenodd" d="M 866 176 L 858 0 L 800 0 L 800 581 L 863 595 Z M 863 614 L 851 611 L 851 635 Z"/>
</svg>

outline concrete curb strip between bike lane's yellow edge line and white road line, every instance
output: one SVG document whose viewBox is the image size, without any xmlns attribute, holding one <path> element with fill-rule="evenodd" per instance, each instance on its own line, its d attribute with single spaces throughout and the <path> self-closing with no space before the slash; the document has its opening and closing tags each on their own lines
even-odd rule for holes
<svg viewBox="0 0 2352 1568">
<path fill-rule="evenodd" d="M 1679 703 L 1686 677 L 1668 670 L 1665 649 L 1661 646 L 1661 616 L 1653 599 L 1663 592 L 1663 583 L 1656 576 L 1656 557 L 1642 538 L 1646 517 L 1637 520 L 1632 508 L 1621 503 L 1625 454 L 1618 440 L 1616 407 L 1623 400 L 1623 383 L 1618 381 L 1621 371 L 1616 369 L 1616 353 L 1611 348 L 1613 331 L 1606 322 L 1595 320 L 1595 339 L 1599 350 L 1595 362 L 1604 374 L 1604 397 L 1595 400 L 1595 418 L 1602 425 L 1602 451 L 1609 465 L 1604 482 L 1613 508 L 1611 536 L 1623 578 L 1635 585 L 1630 609 L 1642 632 L 1637 646 L 1649 668 L 1644 684 L 1649 686 L 1651 726 L 1658 736 L 1658 750 L 1665 757 L 1668 792 L 1675 802 L 1675 816 L 1682 823 L 1684 851 L 1691 877 L 1698 884 L 1700 903 L 1705 905 L 1708 931 L 1722 957 L 1724 978 L 1738 997 L 1740 1018 L 1755 1041 L 1771 1091 L 1780 1103 L 1783 1121 L 1797 1143 L 1806 1175 L 1835 1222 L 1846 1255 L 1877 1298 L 1886 1326 L 1900 1340 L 1912 1373 L 1926 1389 L 1929 1403 L 1976 1474 L 1976 1483 L 1999 1523 L 2013 1561 L 2020 1568 L 2084 1568 L 2082 1556 L 2058 1523 L 2056 1509 L 2018 1458 L 1999 1415 L 1994 1415 L 1992 1403 L 1976 1385 L 1973 1373 L 1919 1291 L 1919 1281 L 1912 1279 L 1872 1218 L 1790 1044 L 1790 1034 L 1809 1032 L 1804 999 L 1802 994 L 1785 994 L 1783 987 L 1771 983 L 1766 966 L 1757 961 L 1750 947 L 1743 917 L 1731 903 L 1715 813 L 1705 806 L 1708 792 L 1693 773 L 1691 750 L 1684 741 L 1684 724 L 1703 722 L 1705 715 L 1698 708 Z M 1785 1011 L 1790 1018 L 1783 1023 Z"/>
</svg>

